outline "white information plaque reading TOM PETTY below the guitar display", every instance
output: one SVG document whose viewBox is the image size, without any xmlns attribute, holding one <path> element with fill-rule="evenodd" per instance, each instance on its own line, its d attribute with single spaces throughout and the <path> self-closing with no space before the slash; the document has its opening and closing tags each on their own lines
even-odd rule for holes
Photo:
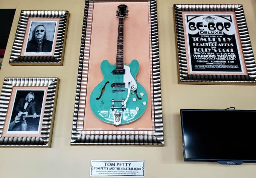
<svg viewBox="0 0 256 178">
<path fill-rule="evenodd" d="M 144 161 L 91 160 L 90 176 L 145 177 Z"/>
</svg>

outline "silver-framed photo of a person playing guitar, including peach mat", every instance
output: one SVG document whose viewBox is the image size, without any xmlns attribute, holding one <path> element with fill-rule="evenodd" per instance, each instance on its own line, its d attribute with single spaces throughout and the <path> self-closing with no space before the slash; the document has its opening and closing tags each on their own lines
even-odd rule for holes
<svg viewBox="0 0 256 178">
<path fill-rule="evenodd" d="M 58 78 L 5 78 L 0 146 L 50 147 L 58 86 Z"/>
</svg>

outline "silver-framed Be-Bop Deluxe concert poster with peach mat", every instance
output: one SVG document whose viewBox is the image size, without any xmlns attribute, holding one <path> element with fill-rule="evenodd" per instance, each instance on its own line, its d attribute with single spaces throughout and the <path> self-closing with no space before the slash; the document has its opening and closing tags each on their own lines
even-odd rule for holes
<svg viewBox="0 0 256 178">
<path fill-rule="evenodd" d="M 242 5 L 174 5 L 180 84 L 255 85 Z"/>
</svg>

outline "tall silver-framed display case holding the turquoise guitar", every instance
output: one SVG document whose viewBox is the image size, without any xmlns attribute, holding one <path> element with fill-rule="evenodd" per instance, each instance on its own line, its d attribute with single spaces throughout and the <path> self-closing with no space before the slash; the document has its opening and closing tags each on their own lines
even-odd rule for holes
<svg viewBox="0 0 256 178">
<path fill-rule="evenodd" d="M 156 0 L 86 0 L 71 145 L 163 145 L 159 68 Z"/>
</svg>

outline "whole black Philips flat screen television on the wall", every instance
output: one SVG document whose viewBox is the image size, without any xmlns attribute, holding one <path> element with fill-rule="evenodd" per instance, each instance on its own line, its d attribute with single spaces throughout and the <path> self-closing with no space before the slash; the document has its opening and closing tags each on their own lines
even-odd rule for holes
<svg viewBox="0 0 256 178">
<path fill-rule="evenodd" d="M 180 110 L 184 161 L 256 162 L 256 110 Z"/>
</svg>

